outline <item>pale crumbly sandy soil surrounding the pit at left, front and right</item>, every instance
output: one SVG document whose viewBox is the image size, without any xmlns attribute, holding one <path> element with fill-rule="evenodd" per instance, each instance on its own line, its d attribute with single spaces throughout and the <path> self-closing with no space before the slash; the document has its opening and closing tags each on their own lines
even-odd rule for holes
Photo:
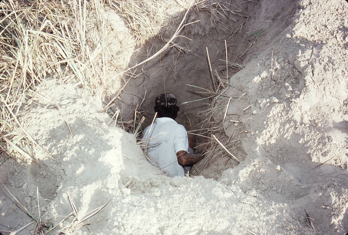
<svg viewBox="0 0 348 235">
<path fill-rule="evenodd" d="M 277 4 L 261 1 L 260 9 L 267 15 Z M 245 160 L 216 180 L 160 175 L 135 137 L 109 124 L 100 100 L 54 79 L 38 87 L 37 105 L 22 117 L 52 158 L 34 149 L 39 164 L 6 161 L 0 179 L 46 223 L 75 205 L 77 220 L 71 216 L 53 234 L 346 234 L 347 19 L 346 1 L 304 0 L 277 37 L 275 27 L 266 31 L 230 78 L 237 89 L 225 93 L 246 92 L 231 100 L 223 123 L 227 136 L 245 125 Z M 0 230 L 29 224 L 0 188 Z"/>
</svg>

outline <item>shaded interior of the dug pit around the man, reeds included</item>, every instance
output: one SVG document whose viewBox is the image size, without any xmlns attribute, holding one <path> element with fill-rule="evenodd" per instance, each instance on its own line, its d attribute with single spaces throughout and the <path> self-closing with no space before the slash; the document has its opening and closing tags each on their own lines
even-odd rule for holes
<svg viewBox="0 0 348 235">
<path fill-rule="evenodd" d="M 246 88 L 229 78 L 268 47 L 290 23 L 284 19 L 292 18 L 295 4 L 286 1 L 286 5 L 287 8 L 275 8 L 272 14 L 265 15 L 264 6 L 253 1 L 225 2 L 172 16 L 173 20 L 167 21 L 159 34 L 139 46 L 129 67 L 151 58 L 166 44 L 169 48 L 130 71 L 118 99 L 111 97 L 120 110 L 119 123 L 130 132 L 141 124 L 141 132 L 153 120 L 155 97 L 173 93 L 180 106 L 178 123 L 201 136 L 215 135 L 228 151 L 243 160 L 245 153 L 239 139 L 245 136 L 245 130 L 238 122 L 229 122 L 238 120 L 237 115 L 229 114 L 231 118 L 224 123 L 229 97 L 223 93 L 232 88 L 234 94 L 230 97 L 243 99 Z M 227 133 L 226 128 L 231 125 L 236 125 L 235 131 Z M 201 148 L 207 149 L 208 157 L 196 166 L 194 173 L 217 179 L 237 162 L 216 141 L 206 143 L 201 136 L 197 136 L 197 145 L 203 144 Z"/>
</svg>

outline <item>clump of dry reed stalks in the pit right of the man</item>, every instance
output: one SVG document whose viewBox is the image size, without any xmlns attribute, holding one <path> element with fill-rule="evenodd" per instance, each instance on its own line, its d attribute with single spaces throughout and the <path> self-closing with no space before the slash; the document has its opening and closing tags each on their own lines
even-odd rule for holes
<svg viewBox="0 0 348 235">
<path fill-rule="evenodd" d="M 254 42 L 255 41 L 253 41 L 252 44 L 254 44 Z M 246 53 L 246 51 L 244 53 Z M 226 99 L 227 96 L 224 95 L 224 92 L 227 91 L 230 87 L 230 76 L 243 69 L 243 66 L 238 65 L 236 63 L 228 62 L 228 50 L 226 40 L 225 54 L 226 58 L 223 61 L 224 63 L 226 63 L 226 65 L 224 68 L 220 69 L 220 72 L 225 71 L 225 73 L 219 74 L 219 72 L 216 70 L 214 70 L 214 72 L 212 71 L 207 50 L 208 67 L 212 79 L 212 86 L 210 90 L 189 85 L 191 87 L 204 90 L 203 92 L 200 91 L 200 93 L 206 93 L 206 99 L 208 99 L 208 108 L 207 110 L 201 111 L 199 113 L 201 122 L 198 124 L 200 126 L 200 129 L 198 130 L 199 135 L 206 136 L 206 138 L 204 138 L 203 143 L 197 146 L 197 148 L 201 151 L 203 149 L 205 158 L 191 170 L 190 173 L 192 175 L 199 173 L 201 170 L 205 168 L 208 168 L 209 165 L 215 161 L 215 158 L 217 156 L 221 156 L 222 159 L 226 158 L 226 160 L 224 160 L 225 165 L 230 161 L 230 159 L 234 159 L 238 163 L 240 162 L 237 159 L 237 157 L 234 154 L 232 154 L 232 152 L 238 147 L 240 140 L 242 140 L 242 135 L 245 131 L 245 127 L 242 122 L 236 121 L 234 126 L 232 126 L 233 131 L 231 135 L 228 137 L 226 136 L 227 131 L 225 128 L 225 121 L 231 99 L 238 99 L 238 97 L 240 99 L 246 94 L 246 92 L 241 96 L 240 94 L 236 94 L 235 97 L 229 97 L 229 99 Z M 237 57 L 238 55 L 236 56 L 236 58 Z M 230 76 L 228 74 L 230 74 Z M 224 78 L 222 78 L 220 75 L 224 76 Z M 222 113 L 224 113 L 224 115 L 222 115 Z M 218 138 L 216 138 L 215 135 L 218 136 Z M 225 144 L 221 143 L 219 139 L 221 139 Z"/>
</svg>

